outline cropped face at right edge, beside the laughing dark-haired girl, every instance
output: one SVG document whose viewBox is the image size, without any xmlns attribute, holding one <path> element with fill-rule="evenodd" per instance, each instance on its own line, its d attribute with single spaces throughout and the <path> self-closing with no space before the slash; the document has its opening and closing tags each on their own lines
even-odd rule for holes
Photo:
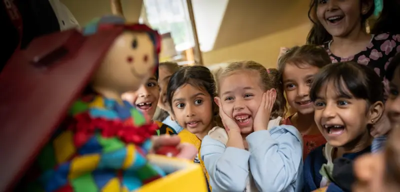
<svg viewBox="0 0 400 192">
<path fill-rule="evenodd" d="M 400 66 L 394 70 L 393 79 L 390 81 L 390 94 L 385 103 L 385 112 L 391 124 L 400 123 L 400 96 L 398 90 L 400 89 Z"/>
</svg>

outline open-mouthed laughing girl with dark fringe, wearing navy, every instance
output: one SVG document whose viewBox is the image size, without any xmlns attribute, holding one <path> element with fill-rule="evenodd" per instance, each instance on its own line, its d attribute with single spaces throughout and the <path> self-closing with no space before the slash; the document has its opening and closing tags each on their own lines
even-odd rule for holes
<svg viewBox="0 0 400 192">
<path fill-rule="evenodd" d="M 339 186 L 345 178 L 331 179 L 335 176 L 332 159 L 345 157 L 352 161 L 371 151 L 369 129 L 383 112 L 383 84 L 365 65 L 329 64 L 315 76 L 310 99 L 315 123 L 327 144 L 315 148 L 304 161 L 304 191 L 325 186 L 327 191 L 343 191 Z"/>
</svg>

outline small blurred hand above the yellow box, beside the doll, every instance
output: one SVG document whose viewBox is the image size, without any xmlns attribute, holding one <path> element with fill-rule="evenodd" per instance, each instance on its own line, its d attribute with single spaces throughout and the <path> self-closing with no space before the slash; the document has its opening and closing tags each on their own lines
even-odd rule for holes
<svg viewBox="0 0 400 192">
<path fill-rule="evenodd" d="M 154 151 L 157 151 L 157 149 L 162 146 L 176 147 L 176 149 L 179 150 L 179 153 L 176 155 L 176 157 L 188 160 L 193 160 L 198 153 L 198 150 L 194 145 L 190 143 L 180 143 L 180 137 L 177 135 L 171 136 L 169 134 L 164 134 L 161 136 L 153 136 L 152 141 L 153 147 L 150 151 L 152 153 L 154 153 Z"/>
</svg>

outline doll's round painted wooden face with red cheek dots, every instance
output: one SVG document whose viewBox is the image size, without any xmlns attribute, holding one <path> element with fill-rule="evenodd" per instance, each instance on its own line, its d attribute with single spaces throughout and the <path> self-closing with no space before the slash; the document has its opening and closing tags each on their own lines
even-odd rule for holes
<svg viewBox="0 0 400 192">
<path fill-rule="evenodd" d="M 125 31 L 110 46 L 94 74 L 92 86 L 119 95 L 137 90 L 150 77 L 154 66 L 154 45 L 150 37 L 145 32 Z"/>
</svg>

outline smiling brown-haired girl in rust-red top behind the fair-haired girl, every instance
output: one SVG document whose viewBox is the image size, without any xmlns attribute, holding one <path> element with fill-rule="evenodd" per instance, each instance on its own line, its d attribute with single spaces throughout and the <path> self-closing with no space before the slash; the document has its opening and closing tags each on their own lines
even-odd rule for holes
<svg viewBox="0 0 400 192">
<path fill-rule="evenodd" d="M 303 138 L 303 159 L 314 148 L 326 143 L 314 121 L 314 107 L 309 87 L 319 69 L 330 63 L 328 54 L 316 45 L 294 46 L 278 60 L 280 86 L 287 102 L 297 112 L 283 123 L 293 125 Z"/>
</svg>

